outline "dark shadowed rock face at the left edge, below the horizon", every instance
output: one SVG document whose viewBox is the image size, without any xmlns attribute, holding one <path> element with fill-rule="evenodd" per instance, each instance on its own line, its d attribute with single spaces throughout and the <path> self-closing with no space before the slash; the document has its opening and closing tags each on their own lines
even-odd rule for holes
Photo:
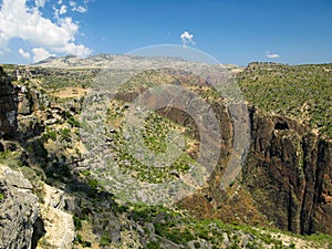
<svg viewBox="0 0 332 249">
<path fill-rule="evenodd" d="M 17 128 L 17 93 L 10 77 L 0 66 L 0 137 Z"/>
</svg>

